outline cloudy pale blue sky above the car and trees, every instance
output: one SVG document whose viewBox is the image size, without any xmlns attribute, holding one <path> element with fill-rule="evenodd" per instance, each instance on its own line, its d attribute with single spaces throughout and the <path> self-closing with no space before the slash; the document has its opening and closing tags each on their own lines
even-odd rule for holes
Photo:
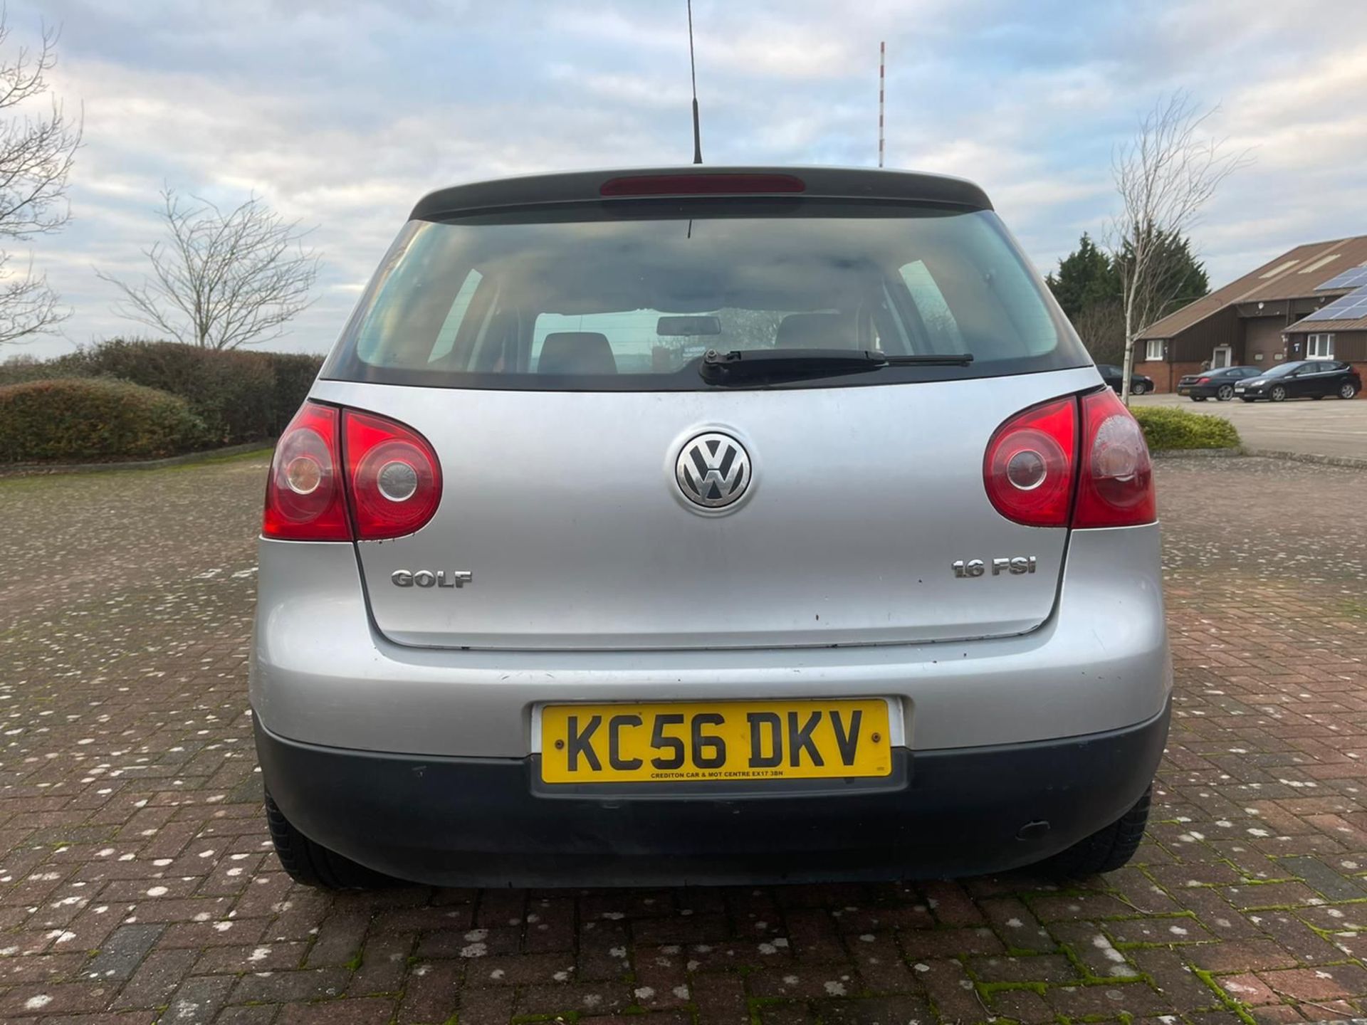
<svg viewBox="0 0 1367 1025">
<path fill-rule="evenodd" d="M 163 183 L 316 228 L 317 302 L 272 347 L 323 351 L 424 191 L 692 157 L 684 0 L 10 0 L 10 46 L 44 22 L 85 146 L 33 245 L 74 313 L 34 355 L 130 329 L 92 268 L 139 272 Z M 1042 269 L 1173 89 L 1256 160 L 1193 232 L 1213 284 L 1367 232 L 1363 0 L 696 0 L 694 30 L 708 163 L 875 163 L 886 40 L 889 165 L 982 183 Z"/>
</svg>

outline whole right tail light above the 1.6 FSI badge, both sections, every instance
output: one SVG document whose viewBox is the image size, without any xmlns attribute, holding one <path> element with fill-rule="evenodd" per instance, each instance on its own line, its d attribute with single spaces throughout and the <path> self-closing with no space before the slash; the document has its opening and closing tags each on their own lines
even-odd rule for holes
<svg viewBox="0 0 1367 1025">
<path fill-rule="evenodd" d="M 983 458 L 992 506 L 1025 526 L 1136 526 L 1156 515 L 1144 432 L 1110 388 L 1023 410 Z"/>
</svg>

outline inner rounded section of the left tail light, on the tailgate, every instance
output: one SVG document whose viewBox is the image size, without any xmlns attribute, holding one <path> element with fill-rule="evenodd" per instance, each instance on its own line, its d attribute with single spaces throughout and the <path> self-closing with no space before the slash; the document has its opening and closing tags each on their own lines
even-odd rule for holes
<svg viewBox="0 0 1367 1025">
<path fill-rule="evenodd" d="M 373 413 L 342 414 L 347 484 L 362 541 L 411 534 L 442 500 L 442 470 L 427 439 Z"/>
</svg>

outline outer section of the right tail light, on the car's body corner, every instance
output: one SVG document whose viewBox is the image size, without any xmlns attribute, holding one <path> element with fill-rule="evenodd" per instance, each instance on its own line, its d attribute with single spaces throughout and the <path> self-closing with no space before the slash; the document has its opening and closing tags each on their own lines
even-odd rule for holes
<svg viewBox="0 0 1367 1025">
<path fill-rule="evenodd" d="M 1073 526 L 1133 526 L 1158 519 L 1144 432 L 1109 388 L 1083 396 L 1083 439 Z"/>
</svg>

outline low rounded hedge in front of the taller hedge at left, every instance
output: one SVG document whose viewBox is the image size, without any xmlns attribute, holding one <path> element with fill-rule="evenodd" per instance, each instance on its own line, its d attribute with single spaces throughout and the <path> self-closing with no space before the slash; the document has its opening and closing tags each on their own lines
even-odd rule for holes
<svg viewBox="0 0 1367 1025">
<path fill-rule="evenodd" d="M 154 459 L 197 447 L 204 421 L 185 399 L 101 379 L 0 387 L 0 462 Z"/>
</svg>

